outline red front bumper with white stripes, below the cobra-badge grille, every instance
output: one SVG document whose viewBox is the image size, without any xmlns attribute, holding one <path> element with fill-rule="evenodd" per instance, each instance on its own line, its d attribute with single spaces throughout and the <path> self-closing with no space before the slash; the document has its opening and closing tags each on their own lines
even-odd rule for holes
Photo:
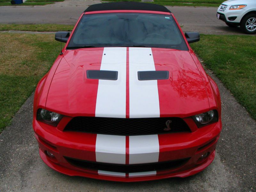
<svg viewBox="0 0 256 192">
<path fill-rule="evenodd" d="M 108 144 L 106 143 L 105 150 L 101 150 L 100 152 L 97 151 L 98 149 L 95 149 L 95 146 L 99 145 L 99 143 L 96 143 L 97 134 L 62 132 L 50 125 L 38 122 L 35 119 L 33 120 L 33 128 L 39 144 L 40 156 L 44 163 L 52 169 L 70 176 L 134 182 L 171 177 L 188 177 L 204 170 L 204 168 L 211 164 L 214 159 L 215 148 L 221 131 L 221 122 L 219 121 L 215 124 L 199 128 L 197 131 L 192 133 L 169 133 L 156 135 L 159 142 L 158 152 L 155 149 L 155 146 L 150 146 L 151 142 L 148 142 L 147 140 L 143 141 L 144 137 L 154 138 L 153 136 L 140 136 L 139 138 L 142 140 L 140 140 L 139 145 L 133 149 L 132 145 L 134 145 L 134 143 L 132 144 L 132 140 L 134 140 L 134 138 L 136 139 L 136 136 L 117 136 L 125 137 L 124 139 L 126 142 L 124 146 L 124 154 L 119 150 L 121 148 L 120 143 L 116 143 L 116 147 L 114 145 L 111 148 L 107 148 L 106 146 L 108 146 Z M 100 136 L 104 137 L 104 135 Z M 111 142 L 115 144 L 115 142 L 119 142 L 117 141 L 118 139 L 119 138 L 112 140 Z M 128 143 L 130 142 L 130 146 L 129 144 L 127 145 L 127 141 Z M 143 145 L 145 142 L 148 142 L 148 144 Z M 52 153 L 54 157 L 47 155 L 46 151 Z M 207 153 L 207 156 L 200 158 L 205 153 Z M 156 157 L 156 155 L 157 160 L 155 159 L 155 161 L 150 162 L 149 159 L 153 158 L 153 156 Z M 161 162 L 172 162 L 181 159 L 186 159 L 186 161 L 182 164 L 177 164 L 174 167 L 169 167 L 168 169 L 148 170 L 143 172 L 118 172 L 118 170 L 95 170 L 93 167 L 84 168 L 78 164 L 70 163 L 67 160 L 67 157 L 91 163 L 103 162 L 105 165 L 113 165 L 114 167 L 120 165 L 118 164 L 118 161 L 121 161 L 123 157 L 124 165 L 126 164 L 127 166 L 130 166 L 131 164 L 140 165 L 140 163 L 143 166 L 147 166 L 148 163 L 158 164 Z M 108 157 L 110 159 L 108 159 Z M 114 160 L 112 157 L 114 157 Z M 105 162 L 104 158 L 106 160 Z M 111 164 L 111 161 L 116 162 L 112 162 Z M 104 169 L 104 166 L 102 169 Z"/>
</svg>

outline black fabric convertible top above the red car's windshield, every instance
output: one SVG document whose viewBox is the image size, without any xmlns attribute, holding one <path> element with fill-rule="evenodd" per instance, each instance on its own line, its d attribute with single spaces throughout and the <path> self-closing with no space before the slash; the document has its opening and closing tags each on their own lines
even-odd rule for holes
<svg viewBox="0 0 256 192">
<path fill-rule="evenodd" d="M 163 5 L 140 3 L 140 2 L 113 2 L 113 3 L 94 4 L 89 6 L 84 12 L 109 11 L 109 10 L 141 10 L 141 11 L 171 12 Z"/>
</svg>

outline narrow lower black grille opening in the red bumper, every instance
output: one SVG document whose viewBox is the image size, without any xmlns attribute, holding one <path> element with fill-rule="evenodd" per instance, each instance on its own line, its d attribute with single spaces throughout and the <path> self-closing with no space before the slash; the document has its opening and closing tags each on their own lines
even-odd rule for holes
<svg viewBox="0 0 256 192">
<path fill-rule="evenodd" d="M 175 161 L 147 163 L 147 164 L 110 164 L 110 163 L 83 161 L 83 160 L 73 159 L 69 157 L 65 157 L 65 159 L 70 164 L 76 167 L 84 168 L 84 169 L 122 172 L 122 173 L 169 170 L 169 169 L 180 167 L 181 165 L 186 164 L 189 160 L 189 158 L 187 158 L 187 159 L 179 159 Z"/>
</svg>

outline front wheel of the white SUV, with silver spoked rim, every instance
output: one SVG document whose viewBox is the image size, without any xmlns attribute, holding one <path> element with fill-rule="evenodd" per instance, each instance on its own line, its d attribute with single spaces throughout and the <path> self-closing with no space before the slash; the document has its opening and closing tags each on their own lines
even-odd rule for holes
<svg viewBox="0 0 256 192">
<path fill-rule="evenodd" d="M 252 27 L 253 25 L 253 27 Z M 241 25 L 240 25 L 242 31 L 247 34 L 255 34 L 256 33 L 256 14 L 249 14 L 246 15 L 242 20 L 241 20 Z"/>
</svg>

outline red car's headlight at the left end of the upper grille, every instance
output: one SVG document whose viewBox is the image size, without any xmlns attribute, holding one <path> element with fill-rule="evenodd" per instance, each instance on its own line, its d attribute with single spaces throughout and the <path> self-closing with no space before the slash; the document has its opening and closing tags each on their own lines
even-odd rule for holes
<svg viewBox="0 0 256 192">
<path fill-rule="evenodd" d="M 37 110 L 37 115 L 36 115 L 36 119 L 38 121 L 44 122 L 46 124 L 50 124 L 55 127 L 58 125 L 62 117 L 63 115 L 59 113 L 55 113 L 55 112 L 48 111 L 41 108 Z"/>
</svg>

